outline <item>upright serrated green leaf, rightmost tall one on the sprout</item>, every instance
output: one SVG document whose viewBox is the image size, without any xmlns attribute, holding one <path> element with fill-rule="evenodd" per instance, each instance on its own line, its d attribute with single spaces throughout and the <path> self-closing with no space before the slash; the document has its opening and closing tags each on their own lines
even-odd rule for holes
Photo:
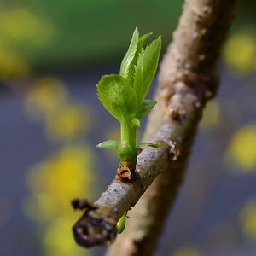
<svg viewBox="0 0 256 256">
<path fill-rule="evenodd" d="M 161 38 L 157 38 L 146 49 L 142 49 L 135 67 L 134 89 L 137 92 L 137 104 L 143 103 L 154 79 L 160 57 Z"/>
</svg>

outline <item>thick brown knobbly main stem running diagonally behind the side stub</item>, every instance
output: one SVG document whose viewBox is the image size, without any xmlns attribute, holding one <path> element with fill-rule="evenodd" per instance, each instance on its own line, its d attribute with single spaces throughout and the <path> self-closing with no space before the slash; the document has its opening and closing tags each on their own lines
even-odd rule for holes
<svg viewBox="0 0 256 256">
<path fill-rule="evenodd" d="M 130 216 L 125 233 L 108 250 L 108 256 L 151 255 L 159 240 L 166 215 L 180 187 L 189 149 L 205 103 L 218 90 L 216 66 L 236 9 L 235 0 L 187 0 L 173 43 L 160 66 L 157 102 L 145 137 L 158 124 L 173 128 L 171 137 L 181 141 L 180 156 L 168 162 Z M 164 116 L 164 118 L 162 118 Z M 157 121 L 158 120 L 158 121 Z"/>
</svg>

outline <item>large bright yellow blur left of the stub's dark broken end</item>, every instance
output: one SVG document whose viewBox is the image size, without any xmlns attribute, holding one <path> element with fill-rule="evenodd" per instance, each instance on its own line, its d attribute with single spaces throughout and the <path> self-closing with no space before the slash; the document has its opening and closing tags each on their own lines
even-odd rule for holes
<svg viewBox="0 0 256 256">
<path fill-rule="evenodd" d="M 47 256 L 88 255 L 73 241 L 71 227 L 81 212 L 70 202 L 76 197 L 90 197 L 92 155 L 82 146 L 68 146 L 59 154 L 34 166 L 27 177 L 32 195 L 25 201 L 26 216 L 41 225 Z"/>
</svg>

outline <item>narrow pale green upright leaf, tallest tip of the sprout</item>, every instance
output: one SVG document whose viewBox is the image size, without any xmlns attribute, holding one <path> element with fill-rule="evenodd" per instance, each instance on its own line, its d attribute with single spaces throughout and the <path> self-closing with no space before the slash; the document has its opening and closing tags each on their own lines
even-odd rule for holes
<svg viewBox="0 0 256 256">
<path fill-rule="evenodd" d="M 121 63 L 121 67 L 120 67 L 120 75 L 124 79 L 131 77 L 131 75 L 134 71 L 135 63 L 133 63 L 134 62 L 133 59 L 137 52 L 138 40 L 139 40 L 139 32 L 136 28 L 132 34 L 131 43 L 129 45 L 129 48 L 125 54 L 125 57 Z"/>
</svg>

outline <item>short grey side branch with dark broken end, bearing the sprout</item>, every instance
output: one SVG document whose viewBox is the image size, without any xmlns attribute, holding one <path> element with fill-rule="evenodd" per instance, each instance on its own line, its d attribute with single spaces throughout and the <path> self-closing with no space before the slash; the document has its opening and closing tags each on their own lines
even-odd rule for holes
<svg viewBox="0 0 256 256">
<path fill-rule="evenodd" d="M 73 225 L 75 240 L 83 247 L 102 245 L 113 241 L 118 219 L 133 207 L 164 169 L 168 160 L 175 160 L 181 138 L 172 137 L 172 128 L 163 125 L 154 137 L 160 148 L 146 148 L 137 157 L 136 175 L 131 181 L 122 182 L 116 177 L 93 204 L 73 201 L 75 209 L 84 210 L 82 217 Z"/>
</svg>

